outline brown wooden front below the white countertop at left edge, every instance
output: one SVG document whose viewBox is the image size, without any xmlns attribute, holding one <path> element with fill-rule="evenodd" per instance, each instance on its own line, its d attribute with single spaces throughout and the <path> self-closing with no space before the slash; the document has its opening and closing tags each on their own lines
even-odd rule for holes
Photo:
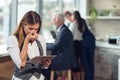
<svg viewBox="0 0 120 80">
<path fill-rule="evenodd" d="M 0 57 L 0 80 L 11 80 L 14 64 L 10 56 Z"/>
</svg>

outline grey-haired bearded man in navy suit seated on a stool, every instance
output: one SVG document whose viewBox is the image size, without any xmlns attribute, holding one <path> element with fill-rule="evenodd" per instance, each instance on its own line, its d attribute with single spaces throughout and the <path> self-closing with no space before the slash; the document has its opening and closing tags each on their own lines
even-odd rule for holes
<svg viewBox="0 0 120 80">
<path fill-rule="evenodd" d="M 67 70 L 77 66 L 74 53 L 73 37 L 71 31 L 64 25 L 64 15 L 56 14 L 55 25 L 57 35 L 54 43 L 47 43 L 47 50 L 52 51 L 52 55 L 57 55 L 51 61 L 50 68 L 53 70 Z"/>
</svg>

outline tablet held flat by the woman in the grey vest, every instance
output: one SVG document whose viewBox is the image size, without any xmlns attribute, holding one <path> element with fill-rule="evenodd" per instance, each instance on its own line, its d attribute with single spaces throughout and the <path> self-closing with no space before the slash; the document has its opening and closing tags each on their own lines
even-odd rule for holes
<svg viewBox="0 0 120 80">
<path fill-rule="evenodd" d="M 27 61 L 27 63 L 41 63 L 44 60 L 52 60 L 56 55 L 37 56 Z"/>
</svg>

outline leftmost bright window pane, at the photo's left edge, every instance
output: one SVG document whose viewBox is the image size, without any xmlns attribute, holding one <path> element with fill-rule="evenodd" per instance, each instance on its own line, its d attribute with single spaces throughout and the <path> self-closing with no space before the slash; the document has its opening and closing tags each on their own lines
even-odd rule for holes
<svg viewBox="0 0 120 80">
<path fill-rule="evenodd" d="M 5 44 L 9 34 L 11 0 L 0 0 L 0 44 Z"/>
</svg>

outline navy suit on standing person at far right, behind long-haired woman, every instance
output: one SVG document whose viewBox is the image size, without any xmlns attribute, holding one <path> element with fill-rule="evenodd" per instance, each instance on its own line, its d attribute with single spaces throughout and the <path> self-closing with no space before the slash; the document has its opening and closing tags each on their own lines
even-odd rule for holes
<svg viewBox="0 0 120 80">
<path fill-rule="evenodd" d="M 94 80 L 94 51 L 95 36 L 90 32 L 84 19 L 81 19 L 85 27 L 83 31 L 83 52 L 81 54 L 81 63 L 85 71 L 85 80 Z"/>
</svg>

